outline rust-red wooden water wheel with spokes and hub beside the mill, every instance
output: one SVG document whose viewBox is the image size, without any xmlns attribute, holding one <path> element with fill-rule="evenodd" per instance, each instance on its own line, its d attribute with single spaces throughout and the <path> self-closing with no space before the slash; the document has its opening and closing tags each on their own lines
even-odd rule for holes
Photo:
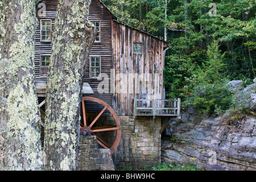
<svg viewBox="0 0 256 182">
<path fill-rule="evenodd" d="M 94 118 L 94 120 L 89 123 L 86 122 L 86 101 L 92 101 L 92 102 L 97 102 L 98 104 L 104 106 L 104 109 L 101 110 L 100 114 L 97 115 L 96 118 Z M 115 121 L 115 125 L 110 125 L 110 126 L 94 126 L 98 119 L 101 117 L 101 115 L 104 113 L 105 110 L 109 110 L 110 113 L 112 114 L 114 121 Z M 110 148 L 110 152 L 113 154 L 114 151 L 117 149 L 118 144 L 120 142 L 120 138 L 121 138 L 121 125 L 119 122 L 119 119 L 117 117 L 117 114 L 115 113 L 114 109 L 109 106 L 106 102 L 98 99 L 98 98 L 94 98 L 94 97 L 82 97 L 82 115 L 83 115 L 83 119 L 84 119 L 84 123 L 83 126 L 80 126 L 80 134 L 83 135 L 96 135 L 97 137 L 97 142 L 98 144 L 100 144 L 100 146 L 104 147 L 104 148 Z M 100 121 L 98 121 L 100 122 Z M 104 131 L 115 131 L 115 137 L 114 137 L 114 142 L 110 145 L 107 142 L 104 141 L 104 139 L 102 139 L 98 133 L 104 132 Z"/>
</svg>

